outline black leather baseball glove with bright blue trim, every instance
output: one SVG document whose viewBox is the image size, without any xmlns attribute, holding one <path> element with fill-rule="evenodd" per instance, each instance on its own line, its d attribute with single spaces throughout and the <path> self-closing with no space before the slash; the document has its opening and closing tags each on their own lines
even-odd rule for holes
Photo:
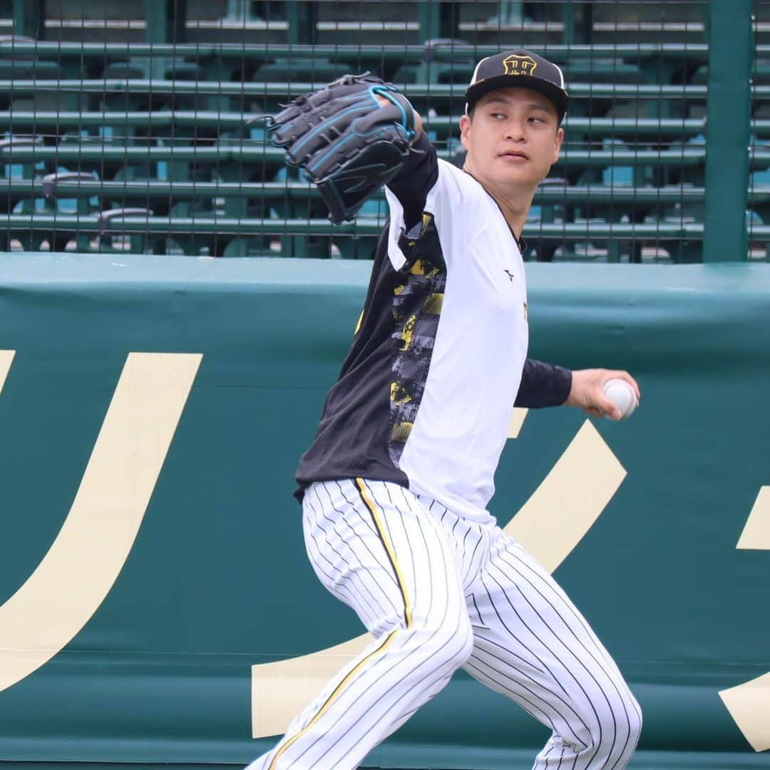
<svg viewBox="0 0 770 770">
<path fill-rule="evenodd" d="M 382 105 L 378 96 L 389 102 Z M 350 221 L 363 202 L 396 176 L 414 138 L 414 110 L 390 83 L 344 75 L 294 99 L 270 122 L 270 139 L 286 148 L 320 190 L 329 219 Z"/>
</svg>

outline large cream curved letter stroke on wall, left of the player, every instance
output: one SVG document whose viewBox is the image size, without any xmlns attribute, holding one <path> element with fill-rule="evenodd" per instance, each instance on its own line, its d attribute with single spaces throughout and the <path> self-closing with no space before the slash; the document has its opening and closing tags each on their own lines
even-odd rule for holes
<svg viewBox="0 0 770 770">
<path fill-rule="evenodd" d="M 142 524 L 201 358 L 129 353 L 62 529 L 0 606 L 0 691 L 69 644 L 109 593 Z"/>
</svg>

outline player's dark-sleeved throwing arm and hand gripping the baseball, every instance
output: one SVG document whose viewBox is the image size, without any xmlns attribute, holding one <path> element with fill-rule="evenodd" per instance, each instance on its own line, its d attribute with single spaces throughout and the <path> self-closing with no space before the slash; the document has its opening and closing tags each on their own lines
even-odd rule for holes
<svg viewBox="0 0 770 770">
<path fill-rule="evenodd" d="M 527 358 L 521 374 L 521 386 L 516 407 L 580 407 L 593 417 L 612 417 L 619 420 L 620 410 L 601 392 L 607 380 L 625 380 L 641 399 L 639 386 L 628 372 L 611 369 L 580 369 L 571 371 Z"/>
</svg>

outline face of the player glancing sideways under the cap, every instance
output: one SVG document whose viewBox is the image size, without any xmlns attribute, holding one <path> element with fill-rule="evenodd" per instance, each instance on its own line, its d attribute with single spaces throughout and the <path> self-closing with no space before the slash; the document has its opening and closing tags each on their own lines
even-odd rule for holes
<svg viewBox="0 0 770 770">
<path fill-rule="evenodd" d="M 494 188 L 534 189 L 559 157 L 564 130 L 551 99 L 531 89 L 499 89 L 463 115 L 460 136 L 467 169 Z"/>
</svg>

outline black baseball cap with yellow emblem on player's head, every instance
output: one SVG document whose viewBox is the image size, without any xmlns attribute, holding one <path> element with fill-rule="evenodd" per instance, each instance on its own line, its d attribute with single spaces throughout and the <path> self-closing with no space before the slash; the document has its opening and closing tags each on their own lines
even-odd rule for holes
<svg viewBox="0 0 770 770">
<path fill-rule="evenodd" d="M 481 59 L 465 92 L 465 112 L 470 112 L 484 94 L 511 86 L 532 89 L 547 96 L 556 106 L 559 122 L 564 119 L 569 104 L 569 95 L 564 88 L 564 72 L 554 62 L 526 49 Z"/>
</svg>

